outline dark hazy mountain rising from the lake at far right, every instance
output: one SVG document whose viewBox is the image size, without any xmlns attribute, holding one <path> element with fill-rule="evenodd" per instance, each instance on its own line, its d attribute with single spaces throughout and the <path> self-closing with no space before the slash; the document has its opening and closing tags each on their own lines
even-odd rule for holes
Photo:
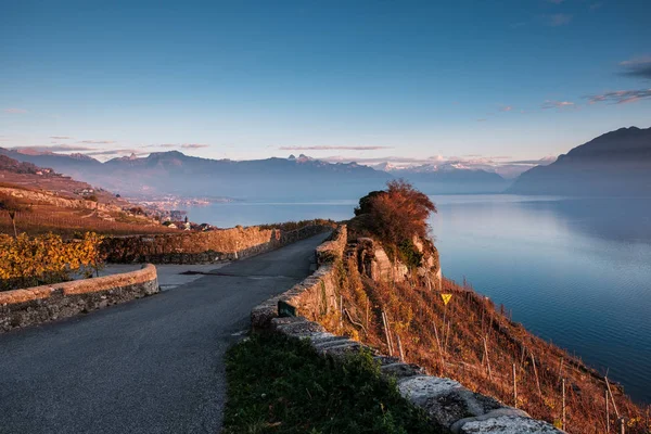
<svg viewBox="0 0 651 434">
<path fill-rule="evenodd" d="M 621 128 L 534 167 L 508 190 L 515 194 L 648 196 L 651 128 Z"/>
</svg>

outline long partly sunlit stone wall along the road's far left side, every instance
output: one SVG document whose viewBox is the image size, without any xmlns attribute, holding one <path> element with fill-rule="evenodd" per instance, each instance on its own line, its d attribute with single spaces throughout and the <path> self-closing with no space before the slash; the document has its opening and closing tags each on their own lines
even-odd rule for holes
<svg viewBox="0 0 651 434">
<path fill-rule="evenodd" d="M 332 230 L 327 225 L 280 229 L 232 228 L 207 232 L 113 237 L 104 240 L 106 260 L 115 264 L 212 264 L 242 259 Z"/>
</svg>

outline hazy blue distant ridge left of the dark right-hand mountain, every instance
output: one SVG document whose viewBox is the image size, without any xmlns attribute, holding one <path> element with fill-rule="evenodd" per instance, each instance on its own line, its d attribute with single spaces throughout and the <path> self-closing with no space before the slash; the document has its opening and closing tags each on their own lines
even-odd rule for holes
<svg viewBox="0 0 651 434">
<path fill-rule="evenodd" d="M 400 177 L 429 194 L 500 192 L 506 181 L 497 174 L 455 167 L 421 166 L 397 171 L 375 170 L 357 163 L 328 163 L 301 154 L 253 161 L 210 159 L 179 151 L 145 157 L 117 157 L 101 163 L 87 155 L 25 153 L 0 149 L 0 154 L 127 194 L 230 196 L 247 200 L 350 199 L 384 188 Z"/>
</svg>

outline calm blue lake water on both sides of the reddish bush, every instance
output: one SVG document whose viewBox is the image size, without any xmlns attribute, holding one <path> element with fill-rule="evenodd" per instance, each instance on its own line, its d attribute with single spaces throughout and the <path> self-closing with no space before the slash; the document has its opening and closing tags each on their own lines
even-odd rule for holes
<svg viewBox="0 0 651 434">
<path fill-rule="evenodd" d="M 434 196 L 443 272 L 651 403 L 651 201 Z M 192 208 L 221 227 L 346 219 L 356 201 Z"/>
</svg>

